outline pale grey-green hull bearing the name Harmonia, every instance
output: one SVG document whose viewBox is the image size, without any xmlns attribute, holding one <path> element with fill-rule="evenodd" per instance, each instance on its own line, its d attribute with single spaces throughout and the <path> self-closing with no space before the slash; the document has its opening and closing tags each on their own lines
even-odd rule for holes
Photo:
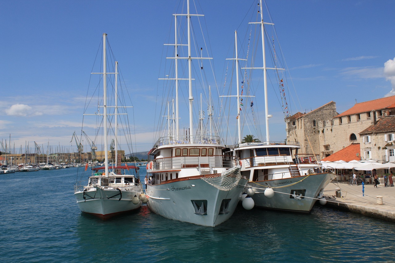
<svg viewBox="0 0 395 263">
<path fill-rule="evenodd" d="M 166 218 L 214 227 L 231 217 L 246 183 L 241 178 L 229 191 L 219 190 L 201 178 L 148 185 L 148 204 L 154 213 Z M 203 209 L 197 212 L 199 207 Z"/>
</svg>

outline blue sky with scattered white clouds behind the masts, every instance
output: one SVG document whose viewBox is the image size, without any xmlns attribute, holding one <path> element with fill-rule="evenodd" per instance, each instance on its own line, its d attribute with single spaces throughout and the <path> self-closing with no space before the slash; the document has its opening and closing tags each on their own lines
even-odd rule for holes
<svg viewBox="0 0 395 263">
<path fill-rule="evenodd" d="M 233 57 L 234 31 L 245 30 L 245 14 L 257 2 L 199 2 L 219 87 L 225 59 Z M 75 151 L 71 135 L 81 130 L 90 70 L 105 32 L 134 96 L 135 151 L 149 150 L 162 49 L 178 0 L 14 0 L 1 6 L 3 143 L 11 134 L 16 149 L 36 141 L 45 151 L 49 140 Z M 297 93 L 292 113 L 329 101 L 342 113 L 355 100 L 395 95 L 394 1 L 268 0 L 267 6 Z M 281 109 L 273 103 L 270 114 L 271 140 L 283 141 Z"/>
</svg>

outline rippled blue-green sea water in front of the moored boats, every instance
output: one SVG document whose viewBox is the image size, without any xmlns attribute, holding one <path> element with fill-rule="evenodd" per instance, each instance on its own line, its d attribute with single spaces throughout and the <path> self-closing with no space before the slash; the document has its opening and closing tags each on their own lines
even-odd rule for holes
<svg viewBox="0 0 395 263">
<path fill-rule="evenodd" d="M 214 228 L 163 218 L 147 205 L 103 221 L 78 209 L 76 172 L 0 176 L 1 262 L 395 260 L 395 224 L 321 206 L 307 215 L 239 207 Z"/>
</svg>

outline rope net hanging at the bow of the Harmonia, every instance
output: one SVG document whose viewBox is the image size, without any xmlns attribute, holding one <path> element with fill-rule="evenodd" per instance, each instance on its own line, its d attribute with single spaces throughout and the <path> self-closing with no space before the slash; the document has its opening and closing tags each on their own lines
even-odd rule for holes
<svg viewBox="0 0 395 263">
<path fill-rule="evenodd" d="M 201 177 L 207 184 L 222 191 L 229 191 L 239 184 L 241 179 L 240 167 L 234 167 L 223 173 Z"/>
</svg>

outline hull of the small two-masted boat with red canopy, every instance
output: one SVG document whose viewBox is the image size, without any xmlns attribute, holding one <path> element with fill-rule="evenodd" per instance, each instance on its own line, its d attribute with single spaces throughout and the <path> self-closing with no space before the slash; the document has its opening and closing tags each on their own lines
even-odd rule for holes
<svg viewBox="0 0 395 263">
<path fill-rule="evenodd" d="M 135 191 L 121 190 L 120 199 L 118 189 L 91 189 L 88 191 L 75 192 L 77 204 L 82 212 L 108 219 L 120 213 L 130 212 L 141 207 L 141 201 L 134 204 L 132 198 L 139 196 Z M 84 199 L 85 197 L 85 199 Z M 108 198 L 111 197 L 111 198 Z"/>
</svg>

